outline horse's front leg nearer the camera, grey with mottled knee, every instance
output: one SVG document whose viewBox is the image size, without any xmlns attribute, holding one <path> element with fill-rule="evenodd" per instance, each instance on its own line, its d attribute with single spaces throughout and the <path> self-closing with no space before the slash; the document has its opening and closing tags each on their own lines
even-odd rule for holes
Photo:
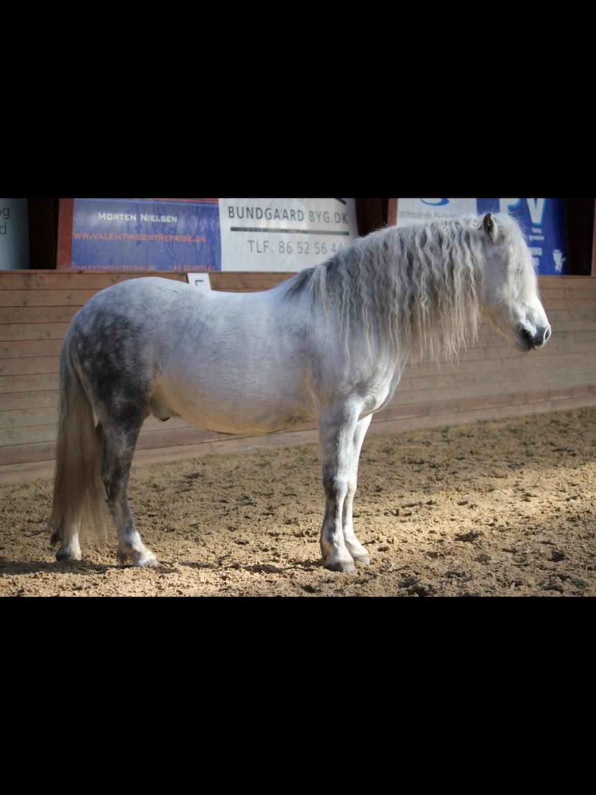
<svg viewBox="0 0 596 795">
<path fill-rule="evenodd" d="M 352 448 L 357 425 L 358 411 L 347 406 L 324 409 L 319 413 L 319 440 L 325 490 L 321 554 L 325 568 L 333 572 L 356 570 L 354 558 L 346 546 L 343 533 L 343 511 L 350 487 Z"/>
</svg>

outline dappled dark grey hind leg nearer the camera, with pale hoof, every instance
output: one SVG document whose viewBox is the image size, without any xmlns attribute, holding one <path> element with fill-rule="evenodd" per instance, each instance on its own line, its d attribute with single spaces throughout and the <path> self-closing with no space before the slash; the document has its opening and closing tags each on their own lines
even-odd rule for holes
<svg viewBox="0 0 596 795">
<path fill-rule="evenodd" d="M 128 501 L 128 481 L 134 448 L 144 413 L 131 411 L 111 418 L 103 425 L 102 480 L 107 504 L 118 529 L 118 552 L 122 564 L 130 560 L 135 566 L 158 566 L 157 557 L 141 541 Z"/>
</svg>

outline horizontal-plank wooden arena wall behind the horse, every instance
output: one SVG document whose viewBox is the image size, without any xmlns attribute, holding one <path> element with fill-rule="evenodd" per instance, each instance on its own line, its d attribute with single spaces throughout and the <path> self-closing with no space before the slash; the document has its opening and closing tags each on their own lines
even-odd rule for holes
<svg viewBox="0 0 596 795">
<path fill-rule="evenodd" d="M 49 471 L 54 456 L 60 343 L 77 309 L 99 289 L 147 273 L 0 272 L 0 476 Z M 186 281 L 184 273 L 159 273 Z M 212 273 L 214 289 L 268 289 L 288 273 Z M 544 351 L 522 355 L 482 327 L 478 345 L 456 366 L 408 366 L 373 432 L 448 425 L 596 405 L 596 280 L 543 277 L 553 328 Z M 180 417 L 149 417 L 137 458 L 197 455 L 249 444 L 315 440 L 311 425 L 240 439 L 192 428 Z M 45 470 L 40 462 L 46 462 Z"/>
</svg>

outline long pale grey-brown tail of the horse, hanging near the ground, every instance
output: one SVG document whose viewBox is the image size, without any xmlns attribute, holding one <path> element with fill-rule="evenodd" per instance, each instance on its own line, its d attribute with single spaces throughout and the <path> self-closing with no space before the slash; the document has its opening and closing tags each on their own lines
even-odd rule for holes
<svg viewBox="0 0 596 795">
<path fill-rule="evenodd" d="M 52 502 L 52 546 L 68 547 L 80 527 L 103 529 L 103 434 L 72 363 L 72 327 L 60 350 L 60 419 Z M 90 520 L 90 522 L 88 521 Z"/>
</svg>

